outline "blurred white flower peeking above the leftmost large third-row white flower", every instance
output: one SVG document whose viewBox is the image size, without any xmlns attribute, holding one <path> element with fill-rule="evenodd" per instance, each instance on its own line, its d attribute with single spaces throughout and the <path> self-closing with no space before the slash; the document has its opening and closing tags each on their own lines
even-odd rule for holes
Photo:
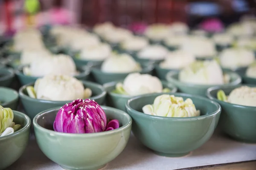
<svg viewBox="0 0 256 170">
<path fill-rule="evenodd" d="M 33 61 L 40 61 L 42 58 L 52 57 L 52 54 L 47 49 L 38 50 L 23 50 L 20 54 L 21 64 L 31 64 Z"/>
</svg>

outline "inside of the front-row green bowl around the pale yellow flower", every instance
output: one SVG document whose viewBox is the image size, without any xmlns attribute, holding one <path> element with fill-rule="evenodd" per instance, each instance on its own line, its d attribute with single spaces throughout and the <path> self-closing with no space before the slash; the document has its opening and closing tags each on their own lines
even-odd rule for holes
<svg viewBox="0 0 256 170">
<path fill-rule="evenodd" d="M 161 94 L 166 94 L 166 93 L 148 94 L 148 95 L 134 97 L 128 101 L 128 106 L 134 109 L 135 111 L 139 111 L 143 113 L 142 111 L 143 106 L 148 104 L 153 104 L 154 99 L 157 96 L 160 96 Z M 195 104 L 195 108 L 197 110 L 200 110 L 201 116 L 215 113 L 219 109 L 219 105 L 215 104 L 215 102 L 212 102 L 211 100 L 205 97 L 189 95 L 189 94 L 180 94 L 180 93 L 169 93 L 169 94 L 183 97 L 184 100 L 186 100 L 187 98 L 192 99 L 193 103 Z"/>
</svg>

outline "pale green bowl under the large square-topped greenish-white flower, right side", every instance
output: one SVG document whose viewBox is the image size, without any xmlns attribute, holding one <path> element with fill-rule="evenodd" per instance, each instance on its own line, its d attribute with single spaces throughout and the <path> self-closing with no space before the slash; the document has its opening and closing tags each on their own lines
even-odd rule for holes
<svg viewBox="0 0 256 170">
<path fill-rule="evenodd" d="M 186 94 L 195 94 L 200 96 L 205 96 L 206 91 L 208 88 L 215 86 L 215 85 L 195 85 L 195 84 L 189 84 L 185 82 L 180 82 L 178 80 L 178 72 L 170 71 L 166 75 L 166 79 L 168 82 L 171 82 L 174 84 L 180 92 L 186 93 Z M 234 73 L 234 72 L 226 72 L 230 76 L 230 83 L 221 85 L 222 87 L 232 87 L 235 85 L 239 85 L 241 83 L 241 77 Z"/>
</svg>

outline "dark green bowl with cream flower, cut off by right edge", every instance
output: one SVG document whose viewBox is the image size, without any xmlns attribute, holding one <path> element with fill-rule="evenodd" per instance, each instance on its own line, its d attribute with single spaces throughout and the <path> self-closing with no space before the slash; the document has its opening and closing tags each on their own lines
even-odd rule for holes
<svg viewBox="0 0 256 170">
<path fill-rule="evenodd" d="M 215 86 L 207 96 L 221 105 L 219 125 L 231 138 L 256 143 L 256 85 Z"/>
</svg>

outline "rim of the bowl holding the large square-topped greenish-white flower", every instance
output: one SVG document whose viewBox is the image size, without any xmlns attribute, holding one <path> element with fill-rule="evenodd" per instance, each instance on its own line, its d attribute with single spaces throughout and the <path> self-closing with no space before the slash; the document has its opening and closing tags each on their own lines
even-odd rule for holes
<svg viewBox="0 0 256 170">
<path fill-rule="evenodd" d="M 169 71 L 166 74 L 166 80 L 168 82 L 179 83 L 179 84 L 182 84 L 182 85 L 186 85 L 188 87 L 197 86 L 197 87 L 200 87 L 200 88 L 209 88 L 209 87 L 212 87 L 212 86 L 216 86 L 216 85 L 201 85 L 201 84 L 192 84 L 192 83 L 187 83 L 187 82 L 181 82 L 180 80 L 174 78 L 174 76 L 179 75 L 179 73 L 180 73 L 180 71 Z M 226 83 L 226 84 L 222 84 L 221 86 L 237 85 L 237 84 L 240 84 L 242 82 L 241 76 L 239 74 L 237 74 L 236 72 L 234 72 L 234 71 L 224 71 L 223 73 L 228 74 L 228 75 L 235 75 L 237 78 L 234 81 Z"/>
</svg>

